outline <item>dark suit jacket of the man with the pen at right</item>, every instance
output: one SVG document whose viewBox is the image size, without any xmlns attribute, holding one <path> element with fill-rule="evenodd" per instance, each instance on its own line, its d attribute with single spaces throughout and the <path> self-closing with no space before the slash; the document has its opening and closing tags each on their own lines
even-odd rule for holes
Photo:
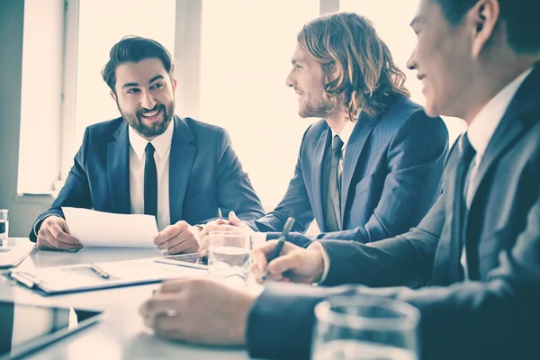
<svg viewBox="0 0 540 360">
<path fill-rule="evenodd" d="M 540 66 L 509 105 L 482 158 L 464 221 L 471 281 L 451 236 L 456 165 L 448 159 L 443 193 L 416 229 L 374 244 L 323 241 L 325 285 L 276 285 L 253 307 L 247 345 L 253 356 L 305 358 L 313 306 L 332 293 L 389 295 L 421 312 L 423 359 L 524 359 L 538 356 L 540 324 Z"/>
</svg>

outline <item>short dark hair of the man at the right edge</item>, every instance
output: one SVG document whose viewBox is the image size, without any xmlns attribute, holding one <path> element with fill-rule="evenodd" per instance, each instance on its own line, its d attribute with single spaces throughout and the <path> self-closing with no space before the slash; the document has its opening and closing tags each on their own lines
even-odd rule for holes
<svg viewBox="0 0 540 360">
<path fill-rule="evenodd" d="M 437 2 L 449 23 L 461 23 L 479 0 L 431 0 Z M 532 3 L 532 4 L 531 4 Z M 500 20 L 506 24 L 509 45 L 520 53 L 540 51 L 540 22 L 535 2 L 530 0 L 499 0 Z"/>
</svg>

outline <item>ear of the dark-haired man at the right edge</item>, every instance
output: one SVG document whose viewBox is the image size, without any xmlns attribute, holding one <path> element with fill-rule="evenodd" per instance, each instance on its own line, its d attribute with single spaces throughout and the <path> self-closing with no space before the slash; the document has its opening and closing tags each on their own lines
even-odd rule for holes
<svg viewBox="0 0 540 360">
<path fill-rule="evenodd" d="M 500 21 L 499 0 L 483 0 L 475 4 L 467 15 L 473 26 L 473 57 L 478 58 Z"/>
</svg>

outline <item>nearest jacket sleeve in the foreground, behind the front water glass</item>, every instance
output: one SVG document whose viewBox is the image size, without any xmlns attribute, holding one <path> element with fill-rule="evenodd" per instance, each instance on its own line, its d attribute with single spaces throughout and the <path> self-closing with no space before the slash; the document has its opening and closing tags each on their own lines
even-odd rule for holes
<svg viewBox="0 0 540 360">
<path fill-rule="evenodd" d="M 532 358 L 537 353 L 540 323 L 538 219 L 540 200 L 529 211 L 527 226 L 515 245 L 501 251 L 500 266 L 491 270 L 483 283 L 464 282 L 416 291 L 403 287 L 270 285 L 249 313 L 246 338 L 249 354 L 254 357 L 309 358 L 315 304 L 330 295 L 365 294 L 392 297 L 419 309 L 419 344 L 423 359 Z M 383 243 L 373 246 L 386 247 Z M 401 240 L 401 244 L 405 243 Z M 398 253 L 403 247 L 387 247 L 387 250 L 389 254 L 396 253 L 392 257 L 400 257 Z M 358 253 L 358 264 L 370 261 L 369 255 Z M 410 251 L 408 255 L 411 255 Z M 413 256 L 410 261 L 416 259 Z M 378 270 L 380 267 L 372 269 L 374 273 Z M 399 269 L 396 267 L 395 270 Z"/>
</svg>

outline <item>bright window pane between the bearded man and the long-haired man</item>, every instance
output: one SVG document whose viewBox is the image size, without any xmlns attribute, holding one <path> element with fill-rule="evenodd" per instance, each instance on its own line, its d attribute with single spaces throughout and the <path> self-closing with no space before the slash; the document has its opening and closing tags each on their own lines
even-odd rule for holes
<svg viewBox="0 0 540 360">
<path fill-rule="evenodd" d="M 303 132 L 285 85 L 296 35 L 319 15 L 319 0 L 205 0 L 200 120 L 229 131 L 266 210 L 293 177 Z"/>
</svg>

